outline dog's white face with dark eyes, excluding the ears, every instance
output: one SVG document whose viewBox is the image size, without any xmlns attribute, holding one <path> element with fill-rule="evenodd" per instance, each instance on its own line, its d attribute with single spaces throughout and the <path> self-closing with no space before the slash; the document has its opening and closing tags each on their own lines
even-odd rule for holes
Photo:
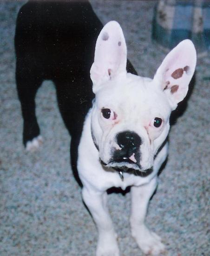
<svg viewBox="0 0 210 256">
<path fill-rule="evenodd" d="M 152 81 L 132 74 L 113 79 L 97 92 L 92 112 L 100 159 L 114 168 L 151 168 L 170 114 L 167 98 Z"/>
</svg>

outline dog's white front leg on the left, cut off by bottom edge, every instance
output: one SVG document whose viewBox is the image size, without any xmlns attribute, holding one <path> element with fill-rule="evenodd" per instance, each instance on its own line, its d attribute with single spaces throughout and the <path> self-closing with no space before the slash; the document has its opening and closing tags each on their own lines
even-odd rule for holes
<svg viewBox="0 0 210 256">
<path fill-rule="evenodd" d="M 106 205 L 106 191 L 100 192 L 84 187 L 82 197 L 98 229 L 96 256 L 119 256 L 117 236 Z"/>
</svg>

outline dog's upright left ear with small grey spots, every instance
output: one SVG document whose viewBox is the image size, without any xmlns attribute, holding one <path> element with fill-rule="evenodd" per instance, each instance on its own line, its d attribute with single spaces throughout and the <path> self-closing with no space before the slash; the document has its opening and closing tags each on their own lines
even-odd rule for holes
<svg viewBox="0 0 210 256">
<path fill-rule="evenodd" d="M 93 92 L 106 81 L 126 75 L 127 48 L 122 28 L 117 21 L 108 22 L 96 41 L 94 62 L 90 75 Z"/>
</svg>

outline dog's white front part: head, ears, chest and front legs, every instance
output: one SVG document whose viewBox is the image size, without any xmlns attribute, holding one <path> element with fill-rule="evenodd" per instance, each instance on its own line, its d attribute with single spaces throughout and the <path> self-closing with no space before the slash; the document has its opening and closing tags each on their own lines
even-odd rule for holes
<svg viewBox="0 0 210 256">
<path fill-rule="evenodd" d="M 190 40 L 177 45 L 153 79 L 126 72 L 127 50 L 116 21 L 98 36 L 90 75 L 95 100 L 79 144 L 82 196 L 98 228 L 97 256 L 118 256 L 106 200 L 111 187 L 131 187 L 131 231 L 144 253 L 164 251 L 161 239 L 144 224 L 158 169 L 167 156 L 171 111 L 184 99 L 195 71 Z"/>
</svg>

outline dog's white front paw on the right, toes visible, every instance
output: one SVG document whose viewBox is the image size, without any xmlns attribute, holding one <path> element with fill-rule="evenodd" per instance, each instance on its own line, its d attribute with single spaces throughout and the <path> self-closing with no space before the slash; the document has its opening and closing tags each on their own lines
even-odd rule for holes
<svg viewBox="0 0 210 256">
<path fill-rule="evenodd" d="M 132 229 L 132 236 L 135 238 L 138 247 L 146 255 L 162 255 L 165 246 L 161 243 L 161 238 L 154 232 L 150 231 L 145 225 L 139 225 Z"/>
</svg>

